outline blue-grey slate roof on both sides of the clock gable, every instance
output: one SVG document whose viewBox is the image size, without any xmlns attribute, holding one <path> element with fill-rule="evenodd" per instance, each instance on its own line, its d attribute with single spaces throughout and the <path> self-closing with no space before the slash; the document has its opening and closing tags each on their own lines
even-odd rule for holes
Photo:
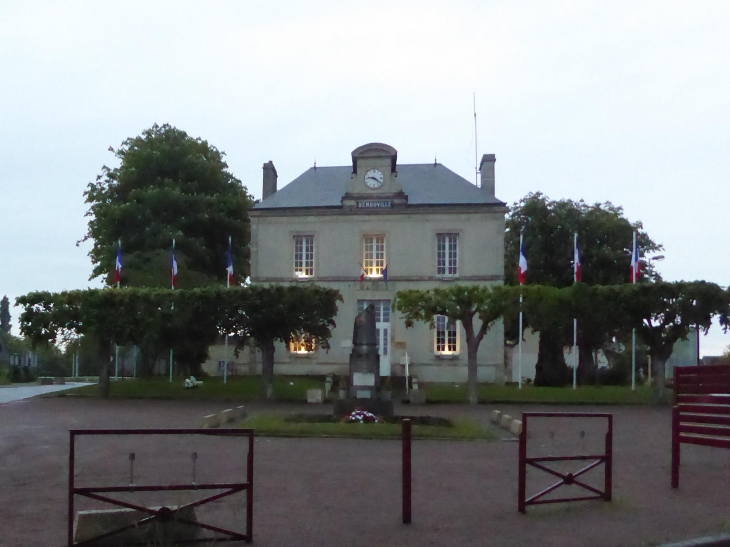
<svg viewBox="0 0 730 547">
<path fill-rule="evenodd" d="M 504 205 L 441 164 L 398 165 L 397 169 L 409 205 Z M 254 209 L 341 207 L 351 175 L 350 166 L 311 167 Z"/>
</svg>

